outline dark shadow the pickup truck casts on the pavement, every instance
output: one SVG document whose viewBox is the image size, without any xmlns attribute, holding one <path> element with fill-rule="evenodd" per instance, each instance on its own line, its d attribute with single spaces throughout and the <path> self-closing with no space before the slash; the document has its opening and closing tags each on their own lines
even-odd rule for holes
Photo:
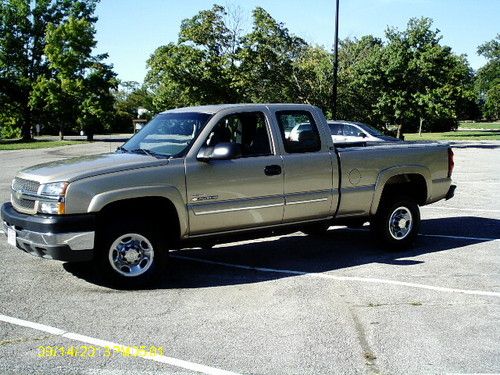
<svg viewBox="0 0 500 375">
<path fill-rule="evenodd" d="M 412 248 L 399 252 L 389 251 L 377 244 L 367 227 L 360 230 L 334 229 L 320 236 L 296 232 L 287 236 L 262 238 L 258 242 L 219 245 L 212 249 L 171 251 L 169 263 L 160 280 L 147 289 L 257 283 L 297 276 L 297 272 L 320 273 L 370 263 L 409 267 L 424 263 L 412 259 L 422 254 L 500 239 L 500 220 L 479 217 L 423 220 L 420 233 Z M 63 266 L 74 276 L 92 284 L 122 289 L 110 284 L 88 265 L 65 263 Z"/>
</svg>

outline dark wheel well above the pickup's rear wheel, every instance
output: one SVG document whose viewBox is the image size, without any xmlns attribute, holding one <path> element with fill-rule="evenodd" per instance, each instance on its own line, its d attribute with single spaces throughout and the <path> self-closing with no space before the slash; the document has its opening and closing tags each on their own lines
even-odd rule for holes
<svg viewBox="0 0 500 375">
<path fill-rule="evenodd" d="M 413 198 L 417 204 L 424 205 L 427 201 L 427 184 L 425 178 L 419 174 L 402 174 L 391 177 L 384 186 L 381 201 L 405 195 Z"/>
</svg>

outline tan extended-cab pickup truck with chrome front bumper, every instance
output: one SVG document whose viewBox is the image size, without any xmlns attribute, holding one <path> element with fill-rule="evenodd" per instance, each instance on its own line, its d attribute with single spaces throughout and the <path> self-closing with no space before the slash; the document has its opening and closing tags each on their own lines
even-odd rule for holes
<svg viewBox="0 0 500 375">
<path fill-rule="evenodd" d="M 419 206 L 453 196 L 453 166 L 447 144 L 335 146 L 311 105 L 179 108 L 114 153 L 20 171 L 1 217 L 8 243 L 27 253 L 97 262 L 112 280 L 140 285 L 169 249 L 230 234 L 370 222 L 387 247 L 408 246 Z"/>
</svg>

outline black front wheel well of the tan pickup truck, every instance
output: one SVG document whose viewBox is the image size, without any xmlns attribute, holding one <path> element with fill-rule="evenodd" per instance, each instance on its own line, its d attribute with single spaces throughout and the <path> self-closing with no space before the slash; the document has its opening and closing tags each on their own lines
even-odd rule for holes
<svg viewBox="0 0 500 375">
<path fill-rule="evenodd" d="M 110 221 L 116 222 L 126 217 L 149 220 L 157 233 L 166 233 L 168 227 L 168 233 L 172 236 L 170 240 L 180 238 L 179 216 L 174 204 L 167 198 L 144 197 L 108 203 L 97 214 L 97 225 L 105 226 Z"/>
</svg>

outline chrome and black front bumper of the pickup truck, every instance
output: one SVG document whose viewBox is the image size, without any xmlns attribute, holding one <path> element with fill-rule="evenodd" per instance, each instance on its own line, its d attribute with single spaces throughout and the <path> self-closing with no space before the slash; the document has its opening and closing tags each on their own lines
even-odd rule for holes
<svg viewBox="0 0 500 375">
<path fill-rule="evenodd" d="M 70 262 L 94 257 L 93 214 L 26 215 L 16 211 L 11 203 L 4 203 L 0 215 L 5 234 L 15 232 L 18 249 L 42 258 Z"/>
</svg>

